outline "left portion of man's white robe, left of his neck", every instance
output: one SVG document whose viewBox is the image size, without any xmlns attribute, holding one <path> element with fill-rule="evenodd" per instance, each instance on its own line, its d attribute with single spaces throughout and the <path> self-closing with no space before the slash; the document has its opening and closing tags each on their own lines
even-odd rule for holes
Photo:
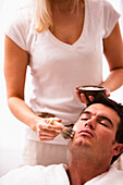
<svg viewBox="0 0 123 185">
<path fill-rule="evenodd" d="M 0 178 L 0 185 L 70 185 L 63 164 L 22 166 Z"/>
</svg>

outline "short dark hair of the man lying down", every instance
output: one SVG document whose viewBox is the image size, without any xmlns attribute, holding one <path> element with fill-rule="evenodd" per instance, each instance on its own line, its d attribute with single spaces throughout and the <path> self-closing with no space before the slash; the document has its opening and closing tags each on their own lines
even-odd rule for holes
<svg viewBox="0 0 123 185">
<path fill-rule="evenodd" d="M 118 127 L 118 131 L 115 134 L 115 140 L 119 144 L 123 144 L 123 106 L 121 103 L 118 103 L 114 100 L 108 98 L 106 95 L 102 95 L 102 94 L 98 94 L 96 96 L 96 98 L 94 99 L 94 101 L 89 102 L 87 104 L 87 107 L 89 107 L 90 104 L 94 104 L 94 103 L 102 103 L 102 104 L 113 109 L 119 114 L 121 120 L 120 120 L 120 124 L 119 124 L 119 127 Z M 111 160 L 111 164 L 121 156 L 121 153 L 118 156 L 113 156 L 113 158 Z"/>
</svg>

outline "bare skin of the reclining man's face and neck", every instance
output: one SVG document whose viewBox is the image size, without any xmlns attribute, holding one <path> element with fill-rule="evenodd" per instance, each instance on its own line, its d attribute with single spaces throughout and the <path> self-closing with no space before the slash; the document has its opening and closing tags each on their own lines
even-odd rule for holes
<svg viewBox="0 0 123 185">
<path fill-rule="evenodd" d="M 112 157 L 123 150 L 123 144 L 115 141 L 118 113 L 100 103 L 89 106 L 85 112 L 75 123 L 76 133 L 70 144 L 72 158 L 66 172 L 71 185 L 85 184 L 107 172 Z"/>
</svg>

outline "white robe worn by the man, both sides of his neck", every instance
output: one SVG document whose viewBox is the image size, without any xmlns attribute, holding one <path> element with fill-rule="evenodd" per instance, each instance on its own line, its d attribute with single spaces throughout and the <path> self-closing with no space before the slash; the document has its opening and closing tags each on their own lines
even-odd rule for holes
<svg viewBox="0 0 123 185">
<path fill-rule="evenodd" d="M 52 164 L 49 166 L 22 166 L 10 171 L 0 178 L 0 185 L 70 185 L 66 171 L 63 164 Z M 94 177 L 84 185 L 122 185 L 123 171 L 111 166 L 101 175 Z"/>
</svg>

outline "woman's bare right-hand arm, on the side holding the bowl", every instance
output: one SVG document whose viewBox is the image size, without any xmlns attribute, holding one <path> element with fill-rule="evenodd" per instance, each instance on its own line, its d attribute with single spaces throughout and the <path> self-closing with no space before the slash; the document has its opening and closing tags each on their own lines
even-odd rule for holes
<svg viewBox="0 0 123 185">
<path fill-rule="evenodd" d="M 101 86 L 113 91 L 123 85 L 123 42 L 119 23 L 110 36 L 103 39 L 103 52 L 107 58 L 110 74 Z"/>
</svg>

